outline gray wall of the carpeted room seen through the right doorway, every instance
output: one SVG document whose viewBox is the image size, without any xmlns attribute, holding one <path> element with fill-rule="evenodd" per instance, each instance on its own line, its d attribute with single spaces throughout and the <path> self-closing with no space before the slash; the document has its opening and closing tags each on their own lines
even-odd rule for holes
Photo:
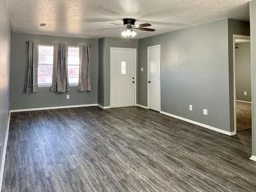
<svg viewBox="0 0 256 192">
<path fill-rule="evenodd" d="M 235 53 L 236 100 L 252 101 L 250 42 L 237 43 Z M 247 95 L 244 95 L 244 92 Z"/>
</svg>

